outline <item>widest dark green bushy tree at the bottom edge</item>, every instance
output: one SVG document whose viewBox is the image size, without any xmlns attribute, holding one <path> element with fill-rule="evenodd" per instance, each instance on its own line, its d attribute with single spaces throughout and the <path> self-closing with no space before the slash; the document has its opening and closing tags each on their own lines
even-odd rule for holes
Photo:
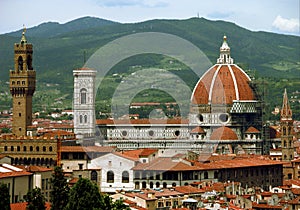
<svg viewBox="0 0 300 210">
<path fill-rule="evenodd" d="M 99 188 L 90 180 L 80 178 L 70 189 L 66 210 L 103 210 L 100 206 Z"/>
</svg>

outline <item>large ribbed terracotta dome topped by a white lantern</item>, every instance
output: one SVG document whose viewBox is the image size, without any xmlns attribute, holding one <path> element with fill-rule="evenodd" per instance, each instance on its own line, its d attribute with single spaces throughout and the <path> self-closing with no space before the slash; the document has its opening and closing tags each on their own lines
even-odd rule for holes
<svg viewBox="0 0 300 210">
<path fill-rule="evenodd" d="M 217 64 L 200 78 L 191 101 L 193 104 L 232 104 L 233 100 L 256 100 L 250 81 L 250 77 L 233 64 L 224 37 Z"/>
</svg>

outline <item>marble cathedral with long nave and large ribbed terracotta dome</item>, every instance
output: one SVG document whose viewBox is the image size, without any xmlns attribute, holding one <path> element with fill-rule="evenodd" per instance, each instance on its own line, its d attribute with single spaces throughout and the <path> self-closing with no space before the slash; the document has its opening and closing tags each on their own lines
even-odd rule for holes
<svg viewBox="0 0 300 210">
<path fill-rule="evenodd" d="M 194 88 L 189 119 L 105 119 L 96 125 L 101 143 L 123 150 L 264 153 L 260 97 L 251 78 L 234 64 L 226 37 L 217 63 Z"/>
</svg>

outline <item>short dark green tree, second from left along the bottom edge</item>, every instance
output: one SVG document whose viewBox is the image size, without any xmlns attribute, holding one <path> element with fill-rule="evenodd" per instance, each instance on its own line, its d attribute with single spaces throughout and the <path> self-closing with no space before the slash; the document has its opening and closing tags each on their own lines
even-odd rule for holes
<svg viewBox="0 0 300 210">
<path fill-rule="evenodd" d="M 41 192 L 41 189 L 36 187 L 27 192 L 25 196 L 27 201 L 27 210 L 43 210 L 45 207 L 45 197 Z"/>
</svg>

